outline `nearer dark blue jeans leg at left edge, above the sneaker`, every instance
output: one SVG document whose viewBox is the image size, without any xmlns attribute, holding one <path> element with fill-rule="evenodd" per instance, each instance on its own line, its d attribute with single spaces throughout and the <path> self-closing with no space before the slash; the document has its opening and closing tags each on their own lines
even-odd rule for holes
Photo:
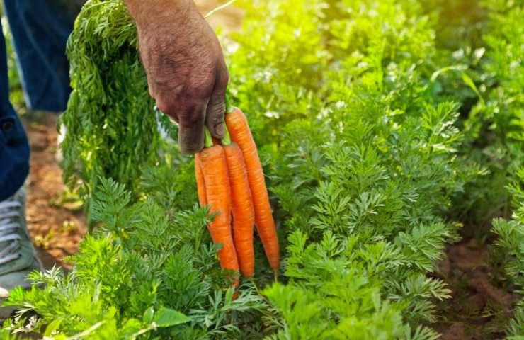
<svg viewBox="0 0 524 340">
<path fill-rule="evenodd" d="M 29 144 L 9 103 L 6 45 L 0 22 L 0 202 L 23 185 L 29 172 Z"/>
</svg>

